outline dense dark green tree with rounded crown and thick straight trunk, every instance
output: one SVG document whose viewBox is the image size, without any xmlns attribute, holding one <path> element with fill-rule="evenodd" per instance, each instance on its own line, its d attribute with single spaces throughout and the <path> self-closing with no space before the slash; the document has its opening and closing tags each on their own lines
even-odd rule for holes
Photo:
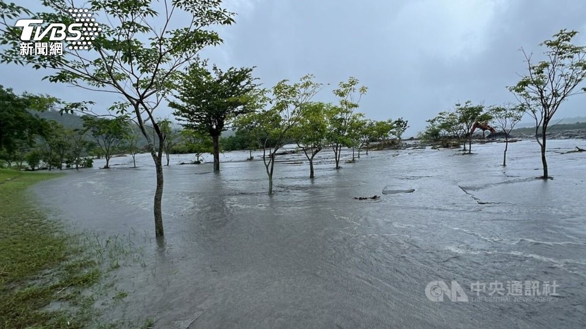
<svg viewBox="0 0 586 329">
<path fill-rule="evenodd" d="M 227 71 L 196 63 L 182 74 L 179 102 L 169 102 L 183 126 L 207 133 L 213 140 L 214 172 L 220 171 L 220 135 L 237 116 L 248 111 L 251 93 L 257 88 L 253 68 L 231 67 Z"/>
</svg>

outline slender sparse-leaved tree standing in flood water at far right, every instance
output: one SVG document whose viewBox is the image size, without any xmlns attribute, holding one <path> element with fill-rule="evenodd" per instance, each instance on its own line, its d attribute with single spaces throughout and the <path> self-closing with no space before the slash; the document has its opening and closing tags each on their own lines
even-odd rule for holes
<svg viewBox="0 0 586 329">
<path fill-rule="evenodd" d="M 586 47 L 572 43 L 577 33 L 561 30 L 553 35 L 553 39 L 540 43 L 547 49 L 544 52 L 545 59 L 537 63 L 532 60 L 532 54 L 522 49 L 527 74 L 516 85 L 509 87 L 535 121 L 535 138 L 541 148 L 543 179 L 550 178 L 546 159 L 550 121 L 563 101 L 571 95 L 586 91 L 586 88 L 575 90 L 586 78 Z"/>
</svg>

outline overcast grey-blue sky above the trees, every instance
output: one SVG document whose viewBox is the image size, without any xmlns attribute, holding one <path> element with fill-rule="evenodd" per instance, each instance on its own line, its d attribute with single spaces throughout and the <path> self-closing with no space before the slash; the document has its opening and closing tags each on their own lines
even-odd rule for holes
<svg viewBox="0 0 586 329">
<path fill-rule="evenodd" d="M 26 0 L 24 4 L 38 1 Z M 520 47 L 541 53 L 540 42 L 560 29 L 586 44 L 586 1 L 548 0 L 227 0 L 236 24 L 219 29 L 222 46 L 202 55 L 220 67 L 256 66 L 265 87 L 306 73 L 329 83 L 316 100 L 335 101 L 331 90 L 353 76 L 369 90 L 359 111 L 368 118 L 403 117 L 414 135 L 425 120 L 472 100 L 486 105 L 515 98 L 506 90 L 524 73 Z M 45 74 L 0 66 L 0 84 L 16 92 L 42 92 L 63 100 L 104 94 L 40 81 Z M 585 115 L 577 95 L 559 117 Z M 170 115 L 164 105 L 158 116 Z"/>
</svg>

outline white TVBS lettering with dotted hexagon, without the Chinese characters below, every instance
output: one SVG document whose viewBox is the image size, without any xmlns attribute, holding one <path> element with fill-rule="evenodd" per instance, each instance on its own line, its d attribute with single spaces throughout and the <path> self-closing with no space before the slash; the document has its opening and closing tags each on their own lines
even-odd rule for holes
<svg viewBox="0 0 586 329">
<path fill-rule="evenodd" d="M 69 9 L 69 14 L 73 16 L 75 23 L 50 23 L 43 28 L 40 26 L 43 24 L 42 19 L 19 19 L 15 26 L 22 28 L 23 42 L 39 42 L 48 36 L 50 42 L 71 42 L 69 49 L 88 49 L 102 28 L 87 9 Z"/>
</svg>

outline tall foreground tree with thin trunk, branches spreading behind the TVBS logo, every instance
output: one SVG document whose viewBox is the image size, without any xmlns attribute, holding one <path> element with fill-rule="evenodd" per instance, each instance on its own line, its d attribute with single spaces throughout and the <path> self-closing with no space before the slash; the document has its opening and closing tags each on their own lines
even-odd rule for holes
<svg viewBox="0 0 586 329">
<path fill-rule="evenodd" d="M 99 23 L 99 33 L 91 37 L 88 50 L 78 50 L 76 46 L 75 49 L 64 47 L 63 56 L 21 55 L 19 43 L 22 29 L 15 28 L 15 19 L 19 16 L 43 19 L 43 28 L 51 22 L 66 25 L 76 22 L 68 10 L 73 1 L 42 3 L 49 12 L 33 15 L 22 6 L 2 2 L 0 14 L 4 19 L 0 20 L 0 43 L 6 45 L 1 50 L 1 61 L 48 69 L 47 78 L 51 82 L 110 92 L 124 100 L 111 109 L 115 115 L 131 112 L 147 139 L 147 149 L 156 169 L 153 202 L 155 232 L 157 237 L 162 237 L 162 143 L 165 136 L 154 111 L 165 95 L 183 82 L 179 81 L 178 72 L 185 64 L 195 59 L 205 47 L 222 43 L 212 28 L 233 23 L 234 13 L 223 9 L 220 0 L 168 0 L 158 2 L 161 6 L 157 9 L 153 8 L 151 1 L 82 2 L 89 12 L 96 15 L 96 23 Z M 48 36 L 45 37 L 48 39 Z M 149 128 L 158 137 L 158 148 L 154 146 Z"/>
</svg>

